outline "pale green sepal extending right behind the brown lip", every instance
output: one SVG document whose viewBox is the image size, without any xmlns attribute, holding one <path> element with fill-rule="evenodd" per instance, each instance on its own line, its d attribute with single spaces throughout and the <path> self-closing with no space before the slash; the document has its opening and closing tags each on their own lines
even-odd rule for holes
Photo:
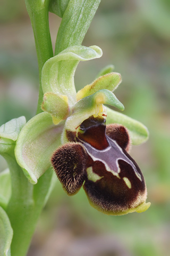
<svg viewBox="0 0 170 256">
<path fill-rule="evenodd" d="M 125 127 L 127 127 L 129 130 L 133 145 L 139 145 L 145 142 L 149 137 L 149 132 L 145 125 L 143 125 L 137 120 L 132 119 L 131 117 L 123 115 L 122 113 L 118 113 L 117 111 L 114 111 L 110 108 L 107 108 L 106 123 L 122 124 Z"/>
</svg>

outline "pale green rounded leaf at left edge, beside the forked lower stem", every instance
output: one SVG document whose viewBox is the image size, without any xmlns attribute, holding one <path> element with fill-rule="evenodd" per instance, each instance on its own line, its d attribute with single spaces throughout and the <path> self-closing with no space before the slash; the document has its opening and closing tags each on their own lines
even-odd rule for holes
<svg viewBox="0 0 170 256">
<path fill-rule="evenodd" d="M 0 173 L 0 205 L 5 209 L 11 197 L 11 175 L 6 169 Z"/>
</svg>

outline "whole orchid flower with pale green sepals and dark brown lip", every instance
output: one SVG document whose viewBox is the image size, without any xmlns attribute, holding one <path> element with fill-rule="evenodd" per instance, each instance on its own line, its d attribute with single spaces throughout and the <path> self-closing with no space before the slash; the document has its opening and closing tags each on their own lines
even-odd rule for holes
<svg viewBox="0 0 170 256">
<path fill-rule="evenodd" d="M 71 46 L 45 62 L 44 112 L 20 132 L 16 161 L 33 184 L 52 165 L 68 195 L 83 186 L 90 204 L 106 214 L 146 211 L 150 203 L 145 179 L 129 151 L 131 141 L 139 145 L 147 140 L 148 130 L 104 105 L 124 110 L 113 94 L 121 75 L 104 70 L 90 85 L 75 91 L 79 61 L 101 55 L 98 46 Z"/>
</svg>

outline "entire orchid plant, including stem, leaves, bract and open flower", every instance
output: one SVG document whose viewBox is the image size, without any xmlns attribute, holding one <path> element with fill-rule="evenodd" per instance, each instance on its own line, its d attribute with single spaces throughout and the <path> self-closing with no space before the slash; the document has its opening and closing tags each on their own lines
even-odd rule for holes
<svg viewBox="0 0 170 256">
<path fill-rule="evenodd" d="M 0 175 L 0 254 L 7 256 L 27 253 L 55 173 L 68 195 L 83 187 L 89 203 L 105 214 L 143 212 L 150 206 L 145 179 L 129 155 L 131 143 L 145 142 L 148 130 L 105 106 L 124 110 L 113 93 L 121 75 L 107 66 L 94 82 L 75 90 L 79 61 L 103 54 L 96 45 L 81 45 L 100 0 L 25 3 L 35 35 L 40 88 L 36 116 L 0 127 L 0 154 L 9 166 Z M 62 18 L 54 53 L 49 11 Z"/>
</svg>

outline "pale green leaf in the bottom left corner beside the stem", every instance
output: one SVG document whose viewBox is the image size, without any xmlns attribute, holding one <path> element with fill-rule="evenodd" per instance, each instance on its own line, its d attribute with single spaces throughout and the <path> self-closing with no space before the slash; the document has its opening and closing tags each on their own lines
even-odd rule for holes
<svg viewBox="0 0 170 256">
<path fill-rule="evenodd" d="M 13 230 L 6 212 L 0 206 L 0 255 L 10 256 Z"/>
</svg>

